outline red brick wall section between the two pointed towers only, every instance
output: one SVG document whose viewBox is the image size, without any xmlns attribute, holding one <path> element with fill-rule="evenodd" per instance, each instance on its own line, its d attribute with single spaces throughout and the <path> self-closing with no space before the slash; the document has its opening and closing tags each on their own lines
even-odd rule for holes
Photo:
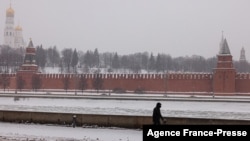
<svg viewBox="0 0 250 141">
<path fill-rule="evenodd" d="M 43 89 L 64 89 L 64 79 L 69 77 L 69 89 L 76 84 L 80 74 L 40 74 Z M 82 74 L 87 80 L 87 89 L 93 88 L 96 74 Z M 125 91 L 161 92 L 211 92 L 211 74 L 99 74 L 104 90 L 122 89 Z M 79 88 L 79 87 L 78 87 Z"/>
</svg>

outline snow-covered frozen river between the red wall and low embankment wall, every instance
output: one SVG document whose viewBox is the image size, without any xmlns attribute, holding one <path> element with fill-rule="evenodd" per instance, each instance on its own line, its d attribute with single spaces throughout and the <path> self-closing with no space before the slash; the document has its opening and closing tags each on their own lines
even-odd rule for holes
<svg viewBox="0 0 250 141">
<path fill-rule="evenodd" d="M 151 116 L 157 100 L 0 97 L 0 110 Z M 165 117 L 250 119 L 250 102 L 162 100 Z"/>
</svg>

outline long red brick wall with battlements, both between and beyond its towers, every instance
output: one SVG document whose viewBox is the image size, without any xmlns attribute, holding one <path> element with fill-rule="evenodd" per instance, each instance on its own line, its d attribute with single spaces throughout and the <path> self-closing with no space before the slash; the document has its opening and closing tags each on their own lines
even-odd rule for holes
<svg viewBox="0 0 250 141">
<path fill-rule="evenodd" d="M 4 74 L 1 74 L 4 75 Z M 9 78 L 6 89 L 16 89 L 16 74 L 5 74 Z M 87 81 L 87 90 L 93 90 L 96 74 L 34 74 L 41 80 L 39 89 L 64 90 L 65 78 L 69 78 L 68 89 L 79 89 L 81 76 Z M 122 89 L 125 91 L 143 90 L 144 92 L 213 92 L 213 74 L 210 73 L 171 73 L 171 74 L 99 74 L 103 80 L 103 90 Z M 32 89 L 31 77 L 23 75 L 23 89 Z M 28 80 L 29 79 L 29 80 Z M 223 84 L 218 84 L 223 85 Z M 3 89 L 3 85 L 0 85 Z M 235 76 L 235 92 L 250 93 L 250 74 L 238 73 Z M 220 92 L 223 93 L 223 92 Z M 227 93 L 225 91 L 225 93 Z"/>
</svg>

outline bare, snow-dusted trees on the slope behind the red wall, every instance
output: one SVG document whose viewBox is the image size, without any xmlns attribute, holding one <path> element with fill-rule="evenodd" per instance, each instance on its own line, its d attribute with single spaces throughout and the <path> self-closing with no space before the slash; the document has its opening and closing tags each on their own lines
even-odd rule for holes
<svg viewBox="0 0 250 141">
<path fill-rule="evenodd" d="M 23 63 L 24 49 L 1 46 L 0 72 L 15 72 Z M 204 58 L 193 55 L 172 57 L 159 53 L 142 52 L 129 55 L 99 53 L 98 49 L 86 52 L 65 48 L 59 51 L 56 46 L 44 49 L 36 47 L 36 63 L 41 70 L 46 67 L 60 68 L 60 73 L 166 73 L 166 72 L 212 72 L 217 58 Z M 238 72 L 249 72 L 248 62 L 234 61 Z"/>
</svg>

